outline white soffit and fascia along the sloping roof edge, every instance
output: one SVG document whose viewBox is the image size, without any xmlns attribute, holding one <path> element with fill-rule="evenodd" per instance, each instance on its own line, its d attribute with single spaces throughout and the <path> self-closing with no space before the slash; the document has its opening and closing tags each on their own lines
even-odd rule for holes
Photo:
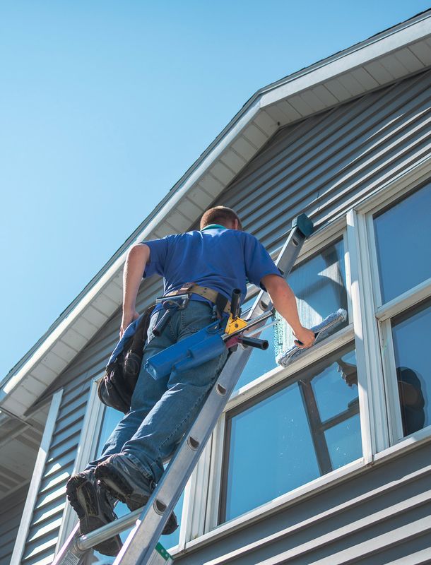
<svg viewBox="0 0 431 565">
<path fill-rule="evenodd" d="M 280 126 L 431 66 L 431 11 L 259 90 L 1 385 L 0 409 L 17 417 L 40 397 L 122 304 L 130 246 L 182 232 Z"/>
</svg>

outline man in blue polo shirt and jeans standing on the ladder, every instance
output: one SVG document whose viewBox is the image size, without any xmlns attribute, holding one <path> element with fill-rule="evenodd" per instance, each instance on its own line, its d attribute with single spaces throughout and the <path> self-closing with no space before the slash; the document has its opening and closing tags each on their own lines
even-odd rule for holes
<svg viewBox="0 0 431 565">
<path fill-rule="evenodd" d="M 115 427 L 100 458 L 67 484 L 81 534 L 114 521 L 115 499 L 125 502 L 131 511 L 146 504 L 163 475 L 163 460 L 199 413 L 228 350 L 199 367 L 172 371 L 159 380 L 144 369 L 146 359 L 229 314 L 232 290 L 240 289 L 245 297 L 247 280 L 268 292 L 293 329 L 298 347 L 314 343 L 314 333 L 300 323 L 295 295 L 264 246 L 242 231 L 237 214 L 223 206 L 211 208 L 203 214 L 200 227 L 200 231 L 136 244 L 129 251 L 120 336 L 138 317 L 135 302 L 143 277 L 162 275 L 165 292 L 151 317 L 131 410 Z M 186 282 L 189 280 L 193 283 Z M 163 533 L 176 528 L 172 514 Z M 116 555 L 121 545 L 116 535 L 95 549 Z"/>
</svg>

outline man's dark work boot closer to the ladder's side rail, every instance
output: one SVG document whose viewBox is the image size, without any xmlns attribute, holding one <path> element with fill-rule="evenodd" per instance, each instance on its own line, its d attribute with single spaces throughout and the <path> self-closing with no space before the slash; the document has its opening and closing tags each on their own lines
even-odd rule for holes
<svg viewBox="0 0 431 565">
<path fill-rule="evenodd" d="M 121 453 L 99 463 L 95 476 L 112 496 L 124 502 L 132 512 L 145 506 L 155 489 L 155 482 L 143 475 L 133 461 Z M 177 528 L 177 517 L 172 512 L 163 535 L 172 534 Z"/>
</svg>

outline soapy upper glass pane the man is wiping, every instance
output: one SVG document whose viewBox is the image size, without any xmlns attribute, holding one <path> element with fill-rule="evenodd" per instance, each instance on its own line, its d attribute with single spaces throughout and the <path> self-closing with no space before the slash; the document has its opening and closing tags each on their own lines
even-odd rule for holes
<svg viewBox="0 0 431 565">
<path fill-rule="evenodd" d="M 288 276 L 288 283 L 297 297 L 298 311 L 304 326 L 315 326 L 338 308 L 347 310 L 343 241 L 328 246 L 319 255 L 297 266 Z M 243 313 L 252 307 L 254 299 L 255 297 L 244 304 Z M 339 326 L 341 327 L 343 326 Z M 252 351 L 235 390 L 276 367 L 278 347 L 285 350 L 293 345 L 292 330 L 286 323 L 283 323 L 283 328 L 278 333 L 282 335 L 283 343 L 280 345 L 275 343 L 273 326 L 261 333 L 260 337 L 269 342 L 268 350 Z"/>
</svg>

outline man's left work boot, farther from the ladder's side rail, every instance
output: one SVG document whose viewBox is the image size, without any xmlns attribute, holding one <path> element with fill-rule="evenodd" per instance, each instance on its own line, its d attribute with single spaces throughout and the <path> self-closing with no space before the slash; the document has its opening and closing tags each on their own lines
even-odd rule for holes
<svg viewBox="0 0 431 565">
<path fill-rule="evenodd" d="M 114 499 L 105 487 L 98 484 L 93 469 L 73 475 L 66 484 L 66 495 L 73 510 L 78 514 L 79 532 L 88 534 L 102 525 L 117 520 Z M 94 546 L 103 555 L 114 557 L 122 548 L 119 535 Z"/>
</svg>

